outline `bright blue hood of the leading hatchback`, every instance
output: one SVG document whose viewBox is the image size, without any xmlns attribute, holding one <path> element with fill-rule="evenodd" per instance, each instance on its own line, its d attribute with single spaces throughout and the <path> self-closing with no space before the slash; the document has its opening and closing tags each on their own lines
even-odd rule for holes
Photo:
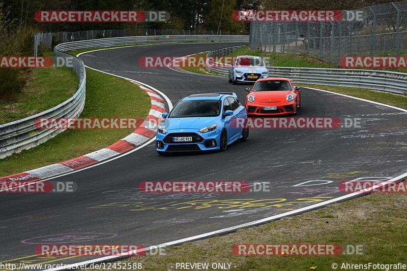
<svg viewBox="0 0 407 271">
<path fill-rule="evenodd" d="M 191 118 L 166 118 L 164 128 L 169 130 L 179 129 L 202 129 L 209 125 L 218 123 L 218 117 L 191 117 Z"/>
</svg>

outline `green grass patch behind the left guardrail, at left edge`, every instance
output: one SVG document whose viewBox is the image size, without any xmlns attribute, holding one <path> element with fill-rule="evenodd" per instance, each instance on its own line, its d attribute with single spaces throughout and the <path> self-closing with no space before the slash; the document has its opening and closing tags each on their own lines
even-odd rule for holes
<svg viewBox="0 0 407 271">
<path fill-rule="evenodd" d="M 0 102 L 0 124 L 40 113 L 63 103 L 74 94 L 78 78 L 67 67 L 32 69 L 20 93 Z"/>
</svg>

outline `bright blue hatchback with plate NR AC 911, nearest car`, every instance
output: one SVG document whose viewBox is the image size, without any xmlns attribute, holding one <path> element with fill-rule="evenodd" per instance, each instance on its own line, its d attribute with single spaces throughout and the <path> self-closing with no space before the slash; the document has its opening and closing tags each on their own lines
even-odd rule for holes
<svg viewBox="0 0 407 271">
<path fill-rule="evenodd" d="M 180 151 L 226 150 L 238 139 L 247 141 L 249 129 L 234 125 L 246 119 L 246 110 L 235 93 L 202 93 L 182 98 L 163 113 L 164 122 L 157 129 L 159 154 Z"/>
</svg>

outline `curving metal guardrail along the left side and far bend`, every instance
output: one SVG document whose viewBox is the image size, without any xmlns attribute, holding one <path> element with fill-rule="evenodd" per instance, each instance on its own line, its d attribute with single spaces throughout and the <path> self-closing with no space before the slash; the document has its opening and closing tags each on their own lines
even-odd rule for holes
<svg viewBox="0 0 407 271">
<path fill-rule="evenodd" d="M 73 57 L 73 67 L 78 77 L 78 90 L 75 94 L 44 112 L 0 125 L 0 159 L 18 153 L 21 150 L 30 149 L 56 136 L 64 131 L 62 129 L 37 129 L 34 127 L 36 118 L 74 118 L 78 117 L 83 110 L 86 93 L 85 67 L 78 57 L 72 56 L 66 51 L 80 50 L 97 47 L 152 44 L 152 43 L 185 43 L 185 42 L 242 42 L 248 43 L 249 36 L 236 35 L 179 35 L 179 36 L 139 36 L 96 39 L 89 41 L 78 41 L 62 43 L 54 47 L 55 57 Z M 67 62 L 67 61 L 65 61 Z"/>
</svg>

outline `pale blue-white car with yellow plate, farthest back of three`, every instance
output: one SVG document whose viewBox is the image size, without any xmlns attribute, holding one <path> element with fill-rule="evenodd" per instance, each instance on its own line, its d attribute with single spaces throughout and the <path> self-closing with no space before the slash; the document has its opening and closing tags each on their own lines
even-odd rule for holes
<svg viewBox="0 0 407 271">
<path fill-rule="evenodd" d="M 263 58 L 254 55 L 239 55 L 229 66 L 229 83 L 251 83 L 268 78 L 269 71 Z"/>
</svg>

